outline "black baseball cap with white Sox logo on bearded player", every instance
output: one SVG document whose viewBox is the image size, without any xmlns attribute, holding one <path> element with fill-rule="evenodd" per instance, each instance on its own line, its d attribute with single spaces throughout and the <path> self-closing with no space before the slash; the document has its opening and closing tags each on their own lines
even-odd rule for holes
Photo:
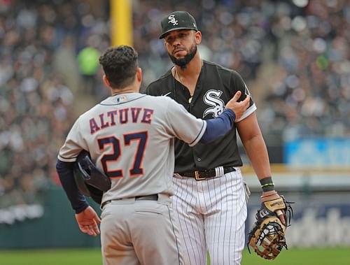
<svg viewBox="0 0 350 265">
<path fill-rule="evenodd" d="M 162 35 L 159 38 L 164 38 L 167 33 L 179 29 L 193 29 L 198 31 L 195 17 L 186 11 L 175 11 L 170 13 L 160 22 L 162 26 Z"/>
</svg>

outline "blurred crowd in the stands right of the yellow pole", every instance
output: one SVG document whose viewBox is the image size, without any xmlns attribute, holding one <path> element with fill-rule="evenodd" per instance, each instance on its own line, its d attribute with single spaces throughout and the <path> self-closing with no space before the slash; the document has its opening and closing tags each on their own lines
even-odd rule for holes
<svg viewBox="0 0 350 265">
<path fill-rule="evenodd" d="M 146 83 L 169 68 L 160 19 L 188 10 L 202 31 L 204 59 L 248 83 L 267 139 L 281 145 L 300 136 L 350 135 L 349 1 L 139 2 L 134 45 Z"/>
</svg>

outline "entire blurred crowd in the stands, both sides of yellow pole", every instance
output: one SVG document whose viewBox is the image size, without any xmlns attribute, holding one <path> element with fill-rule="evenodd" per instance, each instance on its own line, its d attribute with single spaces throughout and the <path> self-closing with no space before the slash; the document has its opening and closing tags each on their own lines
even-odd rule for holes
<svg viewBox="0 0 350 265">
<path fill-rule="evenodd" d="M 349 1 L 132 3 L 142 89 L 171 66 L 160 20 L 188 10 L 202 31 L 202 57 L 246 80 L 267 145 L 350 135 Z M 71 124 L 109 94 L 97 62 L 109 29 L 109 1 L 0 0 L 0 208 L 40 201 L 57 182 Z"/>
</svg>

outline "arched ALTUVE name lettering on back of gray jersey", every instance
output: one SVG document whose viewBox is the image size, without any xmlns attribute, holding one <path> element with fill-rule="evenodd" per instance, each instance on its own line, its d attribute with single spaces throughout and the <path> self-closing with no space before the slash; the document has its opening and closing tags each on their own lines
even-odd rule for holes
<svg viewBox="0 0 350 265">
<path fill-rule="evenodd" d="M 90 119 L 90 133 L 94 134 L 100 129 L 116 126 L 116 124 L 146 123 L 151 124 L 153 110 L 150 108 L 121 108 L 99 114 Z"/>
</svg>

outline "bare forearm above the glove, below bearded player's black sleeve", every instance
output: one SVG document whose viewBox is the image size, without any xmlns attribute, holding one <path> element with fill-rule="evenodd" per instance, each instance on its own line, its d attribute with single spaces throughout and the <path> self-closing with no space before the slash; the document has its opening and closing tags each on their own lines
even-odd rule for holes
<svg viewBox="0 0 350 265">
<path fill-rule="evenodd" d="M 258 179 L 262 180 L 263 178 L 271 177 L 269 155 L 262 135 L 257 134 L 246 141 L 244 148 Z"/>
</svg>

